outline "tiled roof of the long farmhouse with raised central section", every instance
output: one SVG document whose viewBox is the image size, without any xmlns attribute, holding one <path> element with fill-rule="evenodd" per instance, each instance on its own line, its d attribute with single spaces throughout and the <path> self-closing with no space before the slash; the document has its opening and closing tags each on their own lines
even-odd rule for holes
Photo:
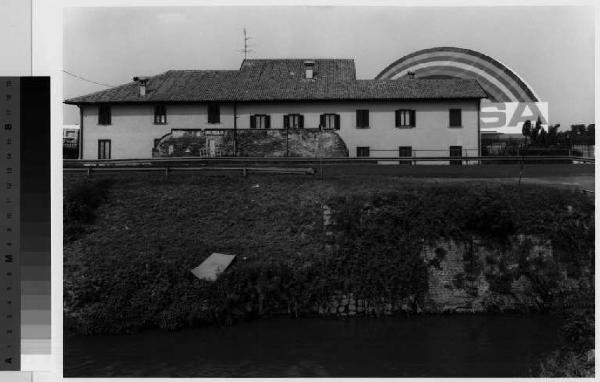
<svg viewBox="0 0 600 382">
<path fill-rule="evenodd" d="M 354 60 L 316 59 L 314 79 L 304 78 L 303 59 L 251 59 L 240 70 L 170 70 L 138 84 L 66 100 L 68 104 L 137 102 L 251 102 L 485 98 L 476 80 L 356 80 Z"/>
</svg>

